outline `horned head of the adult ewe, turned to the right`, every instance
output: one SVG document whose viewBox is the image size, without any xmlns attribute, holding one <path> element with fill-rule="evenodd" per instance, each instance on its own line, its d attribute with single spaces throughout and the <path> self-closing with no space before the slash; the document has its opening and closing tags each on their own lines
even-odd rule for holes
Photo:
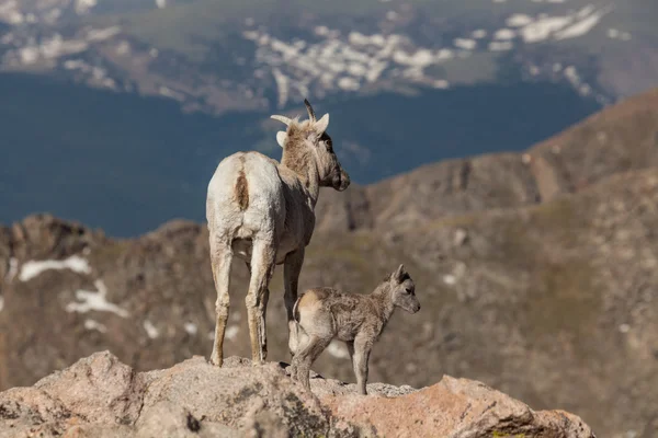
<svg viewBox="0 0 658 438">
<path fill-rule="evenodd" d="M 318 170 L 320 186 L 333 187 L 342 192 L 350 185 L 350 176 L 342 169 L 333 147 L 331 137 L 327 134 L 329 126 L 329 114 L 325 114 L 319 120 L 310 103 L 305 99 L 304 104 L 308 111 L 308 120 L 298 122 L 285 116 L 271 116 L 273 119 L 283 122 L 287 129 L 276 132 L 276 141 L 285 150 L 285 165 L 314 165 Z"/>
</svg>

